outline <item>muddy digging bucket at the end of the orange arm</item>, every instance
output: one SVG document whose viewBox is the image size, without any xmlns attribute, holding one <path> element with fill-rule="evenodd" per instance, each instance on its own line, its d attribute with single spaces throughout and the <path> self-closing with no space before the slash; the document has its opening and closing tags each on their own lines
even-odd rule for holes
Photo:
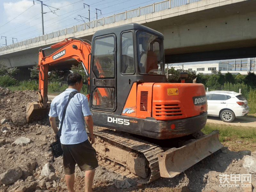
<svg viewBox="0 0 256 192">
<path fill-rule="evenodd" d="M 49 114 L 51 102 L 47 102 L 46 108 L 42 108 L 39 103 L 33 102 L 27 104 L 26 117 L 27 122 L 42 119 Z"/>
</svg>

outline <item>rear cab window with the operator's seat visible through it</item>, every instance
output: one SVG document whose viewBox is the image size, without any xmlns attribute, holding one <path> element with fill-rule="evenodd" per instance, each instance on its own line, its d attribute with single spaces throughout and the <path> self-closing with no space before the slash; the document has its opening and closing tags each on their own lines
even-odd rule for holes
<svg viewBox="0 0 256 192">
<path fill-rule="evenodd" d="M 163 39 L 144 32 L 137 32 L 139 72 L 150 75 L 164 75 Z"/>
</svg>

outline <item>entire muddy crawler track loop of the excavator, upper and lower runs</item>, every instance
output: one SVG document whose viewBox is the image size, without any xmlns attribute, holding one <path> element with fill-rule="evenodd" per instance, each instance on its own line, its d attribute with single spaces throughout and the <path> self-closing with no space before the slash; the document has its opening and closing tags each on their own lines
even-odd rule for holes
<svg viewBox="0 0 256 192">
<path fill-rule="evenodd" d="M 134 137 L 129 133 L 114 131 L 98 126 L 94 126 L 93 129 L 94 135 L 96 136 L 93 147 L 97 151 L 99 165 L 104 166 L 106 169 L 110 169 L 118 174 L 125 175 L 128 178 L 132 178 L 133 180 L 142 184 L 150 183 L 161 177 L 158 164 L 158 153 L 164 152 L 161 147 Z M 99 152 L 99 148 L 97 148 L 99 147 L 96 144 L 97 142 L 107 142 L 107 144 L 104 144 L 105 147 L 108 147 L 106 145 L 112 143 L 113 146 L 119 147 L 120 150 L 128 151 L 130 156 L 134 156 L 134 153 L 136 154 L 135 156 L 143 155 L 147 161 L 148 176 L 146 178 L 142 178 L 136 174 L 136 171 L 129 169 L 126 162 L 122 163 L 122 161 L 118 160 L 118 158 L 111 158 L 104 154 L 102 155 L 102 152 Z"/>
</svg>

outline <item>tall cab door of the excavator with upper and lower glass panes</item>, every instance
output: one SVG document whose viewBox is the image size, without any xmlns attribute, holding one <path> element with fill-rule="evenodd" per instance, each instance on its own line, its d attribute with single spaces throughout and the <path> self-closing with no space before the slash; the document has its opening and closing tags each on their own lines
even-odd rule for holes
<svg viewBox="0 0 256 192">
<path fill-rule="evenodd" d="M 116 36 L 94 38 L 90 74 L 90 107 L 93 110 L 116 110 Z"/>
</svg>

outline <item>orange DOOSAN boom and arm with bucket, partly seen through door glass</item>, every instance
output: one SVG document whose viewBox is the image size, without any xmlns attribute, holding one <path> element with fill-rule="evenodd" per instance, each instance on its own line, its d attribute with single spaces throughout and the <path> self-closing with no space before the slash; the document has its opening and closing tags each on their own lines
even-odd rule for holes
<svg viewBox="0 0 256 192">
<path fill-rule="evenodd" d="M 54 49 L 61 47 L 56 52 L 49 56 L 45 56 L 44 51 L 48 49 Z M 78 62 L 82 62 L 85 73 L 88 76 L 89 81 L 89 71 L 90 71 L 90 55 L 91 55 L 91 45 L 76 38 L 67 38 L 51 47 L 45 49 L 39 49 L 38 56 L 38 71 L 39 71 L 39 92 L 37 103 L 27 104 L 27 121 L 29 122 L 32 118 L 36 116 L 42 116 L 43 113 L 47 114 L 50 110 L 50 102 L 47 98 L 48 91 L 48 68 L 49 65 L 55 65 L 61 61 L 75 59 Z M 103 74 L 99 63 L 96 60 L 96 67 L 98 68 L 100 74 Z M 102 76 L 103 77 L 103 76 Z M 100 102 L 101 97 L 107 96 L 108 92 L 101 90 L 99 96 L 97 97 L 98 102 Z"/>
</svg>

